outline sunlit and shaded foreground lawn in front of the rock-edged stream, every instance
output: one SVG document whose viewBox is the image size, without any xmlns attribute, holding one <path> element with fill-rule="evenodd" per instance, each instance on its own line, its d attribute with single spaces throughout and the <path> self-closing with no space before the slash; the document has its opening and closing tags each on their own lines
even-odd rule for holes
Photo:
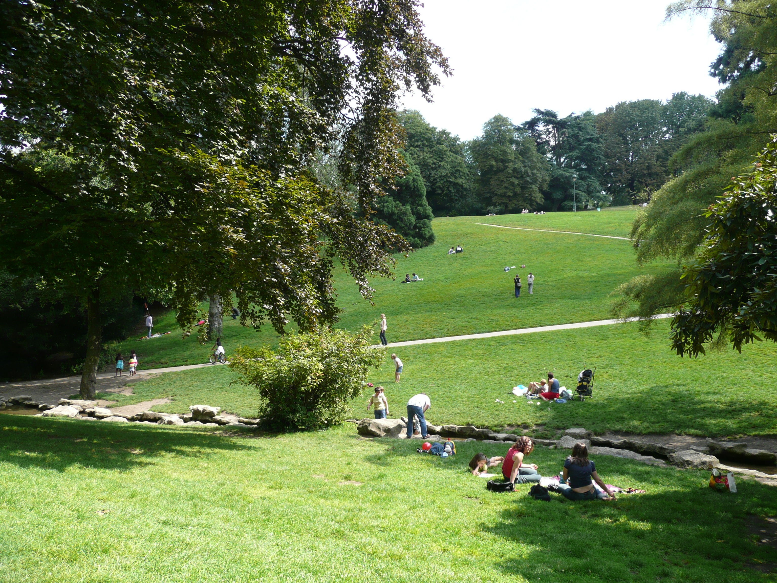
<svg viewBox="0 0 777 583">
<path fill-rule="evenodd" d="M 333 431 L 239 438 L 0 417 L 0 581 L 774 581 L 747 532 L 777 490 L 594 457 L 615 503 L 492 494 L 478 450 Z M 566 452 L 531 460 L 558 472 Z"/>
</svg>

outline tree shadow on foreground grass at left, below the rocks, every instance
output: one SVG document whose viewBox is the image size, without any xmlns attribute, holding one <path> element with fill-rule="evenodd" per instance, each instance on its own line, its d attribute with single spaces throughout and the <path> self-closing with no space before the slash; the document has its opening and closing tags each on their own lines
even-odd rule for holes
<svg viewBox="0 0 777 583">
<path fill-rule="evenodd" d="M 131 470 L 159 456 L 189 458 L 250 449 L 232 436 L 141 424 L 0 416 L 0 463 L 61 472 L 70 466 Z"/>
</svg>

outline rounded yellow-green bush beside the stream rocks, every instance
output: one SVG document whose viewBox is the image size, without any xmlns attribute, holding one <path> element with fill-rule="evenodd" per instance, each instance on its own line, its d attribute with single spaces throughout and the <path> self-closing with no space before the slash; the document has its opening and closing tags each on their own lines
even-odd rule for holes
<svg viewBox="0 0 777 583">
<path fill-rule="evenodd" d="M 385 358 L 384 350 L 370 347 L 372 333 L 364 326 L 357 334 L 329 328 L 294 334 L 280 341 L 277 353 L 240 347 L 229 366 L 239 372 L 238 382 L 259 389 L 264 428 L 330 427 L 343 422 L 369 368 Z"/>
</svg>

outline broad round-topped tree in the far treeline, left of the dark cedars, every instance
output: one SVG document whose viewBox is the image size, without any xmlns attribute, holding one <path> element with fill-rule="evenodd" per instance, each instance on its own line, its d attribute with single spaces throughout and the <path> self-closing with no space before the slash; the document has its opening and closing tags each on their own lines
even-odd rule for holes
<svg viewBox="0 0 777 583">
<path fill-rule="evenodd" d="M 528 131 L 497 115 L 483 125 L 482 136 L 469 142 L 469 150 L 478 172 L 479 197 L 490 211 L 520 211 L 542 204 L 548 162 Z"/>
</svg>

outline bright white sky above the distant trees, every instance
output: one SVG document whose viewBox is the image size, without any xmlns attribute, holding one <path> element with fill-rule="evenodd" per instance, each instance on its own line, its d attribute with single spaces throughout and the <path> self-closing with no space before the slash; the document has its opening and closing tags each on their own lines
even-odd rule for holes
<svg viewBox="0 0 777 583">
<path fill-rule="evenodd" d="M 718 52 L 706 19 L 664 22 L 669 0 L 425 0 L 427 36 L 454 69 L 434 102 L 408 95 L 435 127 L 468 140 L 490 117 L 515 124 L 539 107 L 566 116 L 619 101 L 713 97 Z"/>
</svg>

